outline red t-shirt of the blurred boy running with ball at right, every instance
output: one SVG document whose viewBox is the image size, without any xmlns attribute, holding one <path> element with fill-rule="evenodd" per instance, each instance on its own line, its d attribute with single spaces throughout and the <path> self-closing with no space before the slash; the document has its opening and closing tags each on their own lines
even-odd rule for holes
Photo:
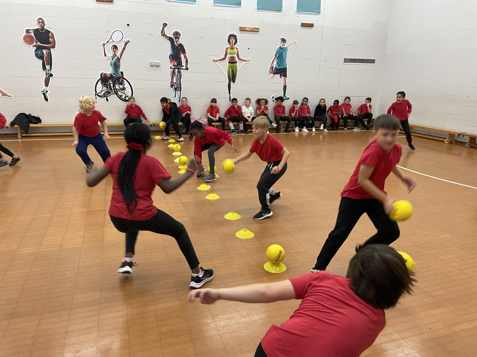
<svg viewBox="0 0 477 357">
<path fill-rule="evenodd" d="M 374 168 L 369 179 L 377 188 L 384 191 L 384 182 L 394 169 L 394 166 L 396 166 L 401 159 L 402 154 L 403 149 L 401 145 L 397 143 L 394 144 L 388 154 L 379 146 L 376 140 L 373 140 L 371 144 L 364 149 L 363 155 L 361 155 L 353 175 L 351 175 L 350 180 L 341 192 L 341 196 L 349 198 L 374 198 L 358 183 L 358 174 L 361 165 L 372 166 Z"/>
</svg>

